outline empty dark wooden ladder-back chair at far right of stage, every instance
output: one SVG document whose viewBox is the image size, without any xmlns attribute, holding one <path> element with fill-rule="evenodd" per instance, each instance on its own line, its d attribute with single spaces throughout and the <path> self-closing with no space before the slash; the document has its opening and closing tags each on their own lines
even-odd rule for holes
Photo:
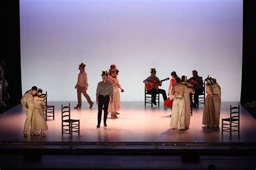
<svg viewBox="0 0 256 170">
<path fill-rule="evenodd" d="M 230 136 L 232 132 L 238 132 L 238 136 L 240 135 L 240 104 L 238 104 L 238 107 L 230 105 L 230 117 L 224 118 L 221 121 L 222 136 L 223 132 L 230 132 Z"/>
</svg>

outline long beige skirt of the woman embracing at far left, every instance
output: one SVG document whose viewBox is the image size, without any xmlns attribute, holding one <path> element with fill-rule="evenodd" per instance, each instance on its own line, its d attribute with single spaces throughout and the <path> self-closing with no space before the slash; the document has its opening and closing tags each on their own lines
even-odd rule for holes
<svg viewBox="0 0 256 170">
<path fill-rule="evenodd" d="M 33 115 L 31 119 L 31 132 L 38 130 L 48 130 L 48 126 L 44 119 L 44 111 L 42 104 L 34 104 Z"/>
</svg>

